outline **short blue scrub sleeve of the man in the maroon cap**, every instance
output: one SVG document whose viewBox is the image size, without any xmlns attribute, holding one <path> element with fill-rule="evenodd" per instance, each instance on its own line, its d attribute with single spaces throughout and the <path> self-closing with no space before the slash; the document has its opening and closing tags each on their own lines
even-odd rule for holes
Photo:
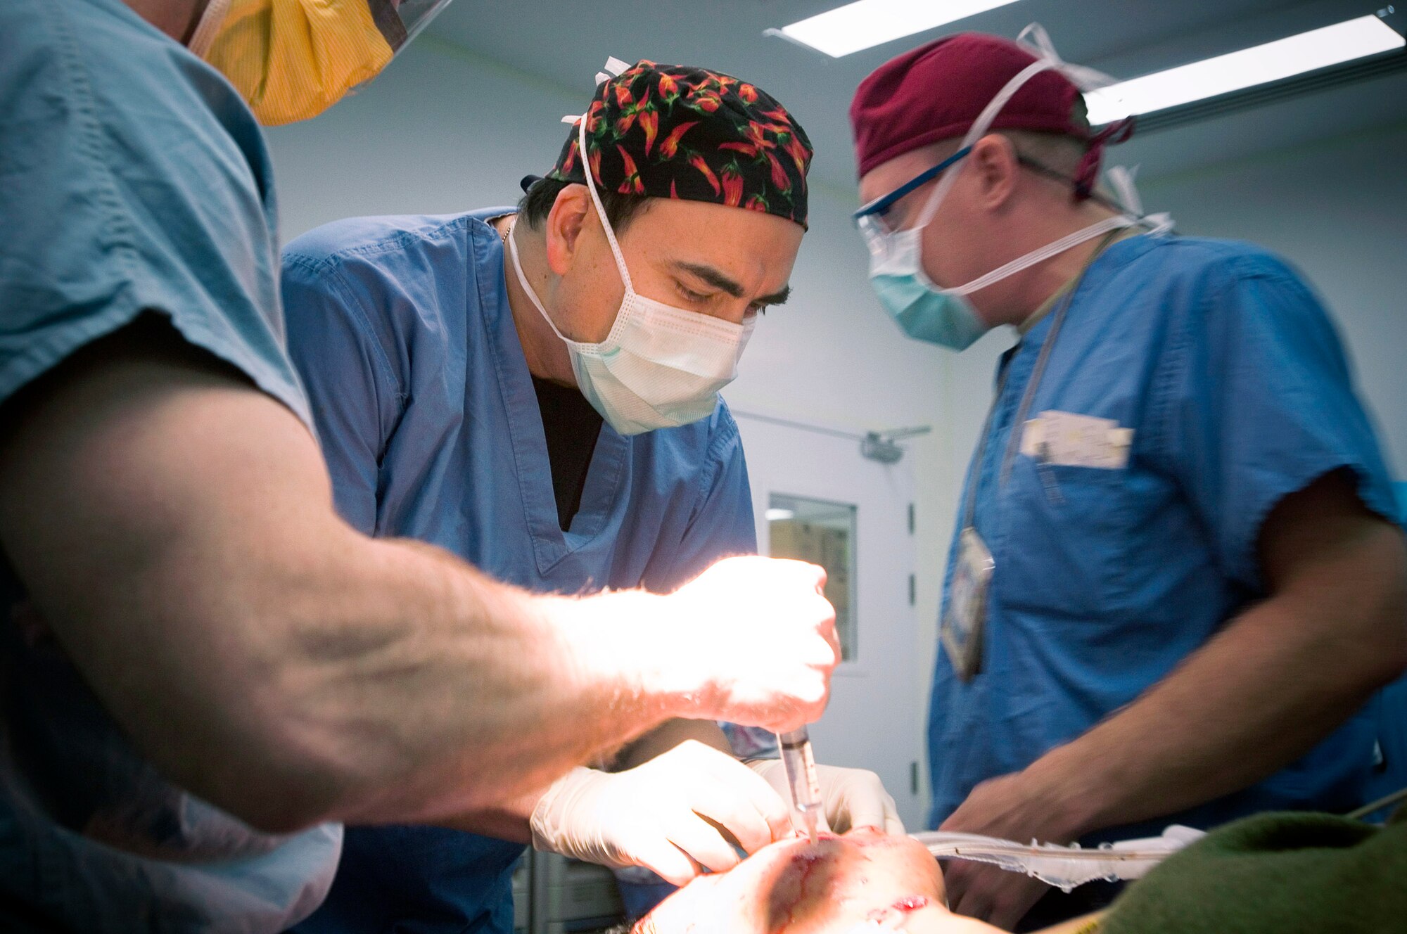
<svg viewBox="0 0 1407 934">
<path fill-rule="evenodd" d="M 1318 298 L 1265 255 L 1218 271 L 1172 342 L 1166 440 L 1223 570 L 1261 592 L 1261 526 L 1286 495 L 1349 468 L 1369 509 L 1394 520 L 1394 504 L 1372 422 Z"/>
</svg>

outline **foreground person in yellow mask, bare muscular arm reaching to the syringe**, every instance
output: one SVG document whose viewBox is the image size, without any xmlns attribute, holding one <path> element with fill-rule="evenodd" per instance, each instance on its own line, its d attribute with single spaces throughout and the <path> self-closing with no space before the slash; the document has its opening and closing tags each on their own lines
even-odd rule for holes
<svg viewBox="0 0 1407 934">
<path fill-rule="evenodd" d="M 276 934 L 346 821 L 457 826 L 674 716 L 825 709 L 820 568 L 563 598 L 336 515 L 259 121 L 443 4 L 0 3 L 0 930 Z"/>
</svg>

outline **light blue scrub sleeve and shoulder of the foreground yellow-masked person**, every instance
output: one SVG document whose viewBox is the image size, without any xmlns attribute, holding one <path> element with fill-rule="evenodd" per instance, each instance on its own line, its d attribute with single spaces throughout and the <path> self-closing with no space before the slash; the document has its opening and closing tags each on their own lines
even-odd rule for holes
<svg viewBox="0 0 1407 934">
<path fill-rule="evenodd" d="M 0 3 L 0 399 L 145 311 L 305 423 L 249 108 L 115 0 Z"/>
</svg>

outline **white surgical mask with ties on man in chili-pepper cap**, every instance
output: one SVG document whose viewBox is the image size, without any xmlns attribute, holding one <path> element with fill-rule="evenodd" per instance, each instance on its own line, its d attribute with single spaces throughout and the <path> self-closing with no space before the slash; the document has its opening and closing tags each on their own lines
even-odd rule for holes
<svg viewBox="0 0 1407 934">
<path fill-rule="evenodd" d="M 734 325 L 635 291 L 630 270 L 626 269 L 625 256 L 606 219 L 585 159 L 585 118 L 580 125 L 578 145 L 587 188 L 611 243 L 620 281 L 625 283 L 625 297 L 616 311 L 615 325 L 599 343 L 573 340 L 561 333 L 523 274 L 515 229 L 508 235 L 508 252 L 518 283 L 553 333 L 567 345 L 577 387 L 611 428 L 622 435 L 639 435 L 708 418 L 718 405 L 719 390 L 737 376 L 737 360 L 757 319 L 749 318 L 747 322 Z"/>
</svg>

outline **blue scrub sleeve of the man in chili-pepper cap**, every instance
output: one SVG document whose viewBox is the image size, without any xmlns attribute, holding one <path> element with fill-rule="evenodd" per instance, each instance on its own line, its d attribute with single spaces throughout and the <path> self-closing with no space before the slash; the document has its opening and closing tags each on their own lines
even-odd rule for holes
<svg viewBox="0 0 1407 934">
<path fill-rule="evenodd" d="M 401 394 L 364 300 L 335 262 L 284 253 L 288 354 L 308 391 L 336 509 L 376 535 L 381 452 Z"/>
</svg>

